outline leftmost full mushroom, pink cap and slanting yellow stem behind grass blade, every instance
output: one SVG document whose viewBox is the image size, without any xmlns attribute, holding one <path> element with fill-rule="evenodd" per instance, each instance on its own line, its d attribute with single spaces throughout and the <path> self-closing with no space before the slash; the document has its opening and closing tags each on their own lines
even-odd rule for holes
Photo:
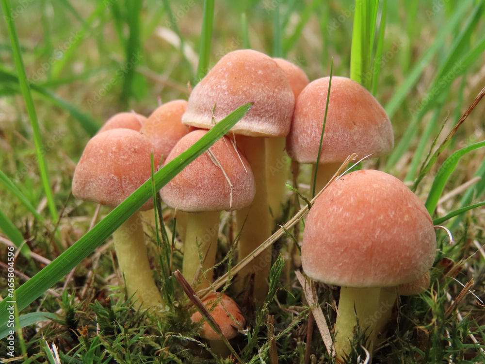
<svg viewBox="0 0 485 364">
<path fill-rule="evenodd" d="M 112 129 L 95 135 L 86 145 L 74 171 L 72 194 L 84 201 L 115 207 L 151 176 L 152 145 L 131 129 Z M 140 210 L 153 208 L 147 201 Z M 145 234 L 138 213 L 113 233 L 118 265 L 129 296 L 137 307 L 163 303 L 146 255 Z"/>
</svg>

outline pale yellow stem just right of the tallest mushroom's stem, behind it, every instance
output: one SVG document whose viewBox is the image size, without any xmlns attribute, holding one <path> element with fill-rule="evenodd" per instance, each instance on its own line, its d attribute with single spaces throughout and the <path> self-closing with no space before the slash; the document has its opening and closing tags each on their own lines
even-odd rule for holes
<svg viewBox="0 0 485 364">
<path fill-rule="evenodd" d="M 286 181 L 290 175 L 290 157 L 285 152 L 286 137 L 266 138 L 266 187 L 273 221 L 283 217 L 283 205 L 288 197 Z M 273 224 L 274 225 L 274 224 Z"/>
</svg>

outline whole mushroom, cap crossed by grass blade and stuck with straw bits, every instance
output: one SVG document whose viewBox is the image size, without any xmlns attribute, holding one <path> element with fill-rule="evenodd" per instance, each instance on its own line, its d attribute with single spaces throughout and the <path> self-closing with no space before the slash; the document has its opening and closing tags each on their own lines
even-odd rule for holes
<svg viewBox="0 0 485 364">
<path fill-rule="evenodd" d="M 185 135 L 168 155 L 167 163 L 206 133 L 207 130 L 196 130 Z M 220 212 L 250 205 L 254 194 L 251 167 L 227 137 L 219 139 L 162 188 L 161 196 L 168 206 L 191 213 L 187 218 L 182 271 L 196 289 L 207 288 L 212 281 L 209 269 L 215 264 Z M 204 271 L 207 280 L 200 276 Z"/>
</svg>

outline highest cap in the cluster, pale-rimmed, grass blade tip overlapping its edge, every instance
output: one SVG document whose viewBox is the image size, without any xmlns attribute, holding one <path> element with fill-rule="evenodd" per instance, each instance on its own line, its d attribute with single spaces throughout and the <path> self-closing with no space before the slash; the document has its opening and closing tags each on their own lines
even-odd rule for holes
<svg viewBox="0 0 485 364">
<path fill-rule="evenodd" d="M 254 102 L 231 129 L 249 136 L 285 136 L 290 132 L 294 95 L 283 70 L 256 50 L 227 53 L 197 83 L 184 124 L 210 129 L 232 111 Z"/>
</svg>

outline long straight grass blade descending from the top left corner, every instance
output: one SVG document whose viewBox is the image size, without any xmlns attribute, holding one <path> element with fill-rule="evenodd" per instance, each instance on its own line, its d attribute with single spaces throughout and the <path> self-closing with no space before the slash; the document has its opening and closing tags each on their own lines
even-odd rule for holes
<svg viewBox="0 0 485 364">
<path fill-rule="evenodd" d="M 54 196 L 50 187 L 49 168 L 45 159 L 45 153 L 42 142 L 42 135 L 40 132 L 39 122 L 37 119 L 37 113 L 35 112 L 35 106 L 33 104 L 32 94 L 27 82 L 27 74 L 25 73 L 24 61 L 20 52 L 20 44 L 18 43 L 17 30 L 12 16 L 12 8 L 10 6 L 10 0 L 1 0 L 3 13 L 5 15 L 5 21 L 7 23 L 8 34 L 10 42 L 12 44 L 12 51 L 15 61 L 15 67 L 18 75 L 18 83 L 22 96 L 27 107 L 27 113 L 29 114 L 30 123 L 32 126 L 33 139 L 35 144 L 35 150 L 37 155 L 37 164 L 39 166 L 40 178 L 42 185 L 44 186 L 44 192 L 46 194 L 47 204 L 49 206 L 50 215 L 53 221 L 57 221 L 58 213 L 56 204 L 54 202 Z"/>
</svg>

